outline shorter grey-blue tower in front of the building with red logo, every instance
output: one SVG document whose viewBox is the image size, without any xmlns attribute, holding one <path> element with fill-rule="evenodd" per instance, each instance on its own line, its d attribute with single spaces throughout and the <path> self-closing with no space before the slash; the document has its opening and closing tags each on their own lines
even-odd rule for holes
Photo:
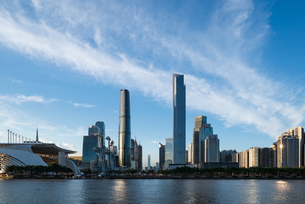
<svg viewBox="0 0 305 204">
<path fill-rule="evenodd" d="M 219 139 L 217 135 L 207 135 L 204 140 L 204 162 L 219 162 Z"/>
</svg>

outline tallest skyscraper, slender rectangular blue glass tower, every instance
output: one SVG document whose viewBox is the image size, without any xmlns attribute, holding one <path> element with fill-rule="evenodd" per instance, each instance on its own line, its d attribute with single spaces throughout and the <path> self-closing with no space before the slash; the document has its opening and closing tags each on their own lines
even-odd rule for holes
<svg viewBox="0 0 305 204">
<path fill-rule="evenodd" d="M 184 75 L 173 74 L 173 163 L 185 164 Z"/>
</svg>

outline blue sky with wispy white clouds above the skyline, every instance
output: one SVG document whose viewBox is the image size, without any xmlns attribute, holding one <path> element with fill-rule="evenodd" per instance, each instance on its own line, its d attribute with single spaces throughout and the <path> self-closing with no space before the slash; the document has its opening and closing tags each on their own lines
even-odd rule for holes
<svg viewBox="0 0 305 204">
<path fill-rule="evenodd" d="M 207 116 L 220 149 L 270 147 L 304 126 L 300 1 L 5 1 L 0 142 L 7 130 L 82 153 L 104 121 L 118 145 L 120 89 L 131 135 L 159 161 L 172 137 L 172 74 L 184 74 L 186 144 Z"/>
</svg>

